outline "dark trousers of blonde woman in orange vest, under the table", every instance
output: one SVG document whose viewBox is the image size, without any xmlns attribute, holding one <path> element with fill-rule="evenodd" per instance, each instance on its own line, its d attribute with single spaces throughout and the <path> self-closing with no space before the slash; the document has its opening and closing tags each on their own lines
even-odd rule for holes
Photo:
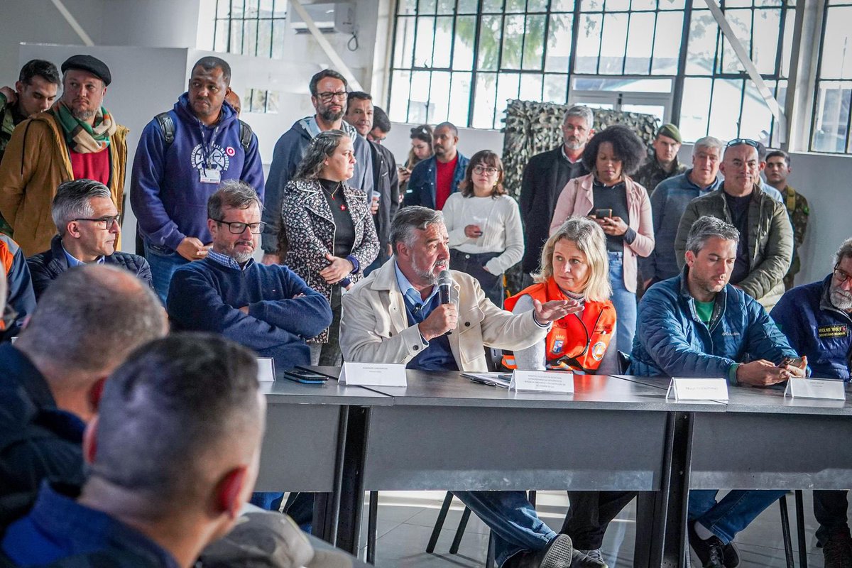
<svg viewBox="0 0 852 568">
<path fill-rule="evenodd" d="M 570 507 L 560 532 L 579 550 L 601 548 L 609 522 L 635 496 L 635 491 L 568 491 Z"/>
</svg>

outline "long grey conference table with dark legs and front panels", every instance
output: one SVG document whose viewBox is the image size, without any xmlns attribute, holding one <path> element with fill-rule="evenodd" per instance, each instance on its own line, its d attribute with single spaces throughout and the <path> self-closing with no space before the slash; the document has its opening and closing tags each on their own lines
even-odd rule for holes
<svg viewBox="0 0 852 568">
<path fill-rule="evenodd" d="M 365 491 L 639 491 L 634 565 L 680 567 L 689 488 L 852 487 L 852 445 L 841 441 L 852 402 L 749 387 L 729 387 L 727 402 L 674 401 L 668 384 L 575 375 L 563 395 L 457 372 L 409 370 L 407 387 L 279 376 L 263 383 L 257 491 L 317 493 L 314 534 L 352 554 Z"/>
</svg>

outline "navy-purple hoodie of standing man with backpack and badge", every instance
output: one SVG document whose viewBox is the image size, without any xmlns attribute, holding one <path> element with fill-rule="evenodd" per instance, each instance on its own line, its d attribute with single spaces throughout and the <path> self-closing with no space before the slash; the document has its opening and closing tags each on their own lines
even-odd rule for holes
<svg viewBox="0 0 852 568">
<path fill-rule="evenodd" d="M 239 119 L 230 105 L 213 126 L 204 126 L 189 107 L 187 93 L 169 111 L 175 141 L 166 147 L 156 118 L 142 130 L 133 158 L 130 205 L 141 234 L 156 246 L 176 250 L 186 237 L 210 243 L 207 200 L 218 183 L 201 181 L 202 169 L 216 169 L 222 181 L 240 180 L 263 201 L 263 165 L 257 136 L 247 151 L 239 138 Z"/>
</svg>

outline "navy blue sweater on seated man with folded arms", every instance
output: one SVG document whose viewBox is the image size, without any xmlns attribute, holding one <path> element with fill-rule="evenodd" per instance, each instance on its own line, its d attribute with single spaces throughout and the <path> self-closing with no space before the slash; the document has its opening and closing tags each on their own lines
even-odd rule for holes
<svg viewBox="0 0 852 568">
<path fill-rule="evenodd" d="M 303 298 L 293 298 L 304 294 Z M 249 307 L 249 313 L 239 311 Z M 210 258 L 177 269 L 166 301 L 176 330 L 221 333 L 272 357 L 276 369 L 310 363 L 305 343 L 331 324 L 325 296 L 282 266 L 250 261 L 245 270 Z"/>
</svg>

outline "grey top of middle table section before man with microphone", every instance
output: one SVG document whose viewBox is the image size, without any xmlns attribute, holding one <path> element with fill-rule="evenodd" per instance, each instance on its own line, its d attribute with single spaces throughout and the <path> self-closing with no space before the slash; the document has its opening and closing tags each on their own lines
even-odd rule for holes
<svg viewBox="0 0 852 568">
<path fill-rule="evenodd" d="M 456 371 L 409 370 L 407 387 L 370 387 L 394 397 L 394 405 L 445 405 L 597 410 L 722 411 L 724 404 L 672 402 L 665 392 L 612 376 L 574 375 L 574 393 L 515 393 L 472 382 Z"/>
</svg>

